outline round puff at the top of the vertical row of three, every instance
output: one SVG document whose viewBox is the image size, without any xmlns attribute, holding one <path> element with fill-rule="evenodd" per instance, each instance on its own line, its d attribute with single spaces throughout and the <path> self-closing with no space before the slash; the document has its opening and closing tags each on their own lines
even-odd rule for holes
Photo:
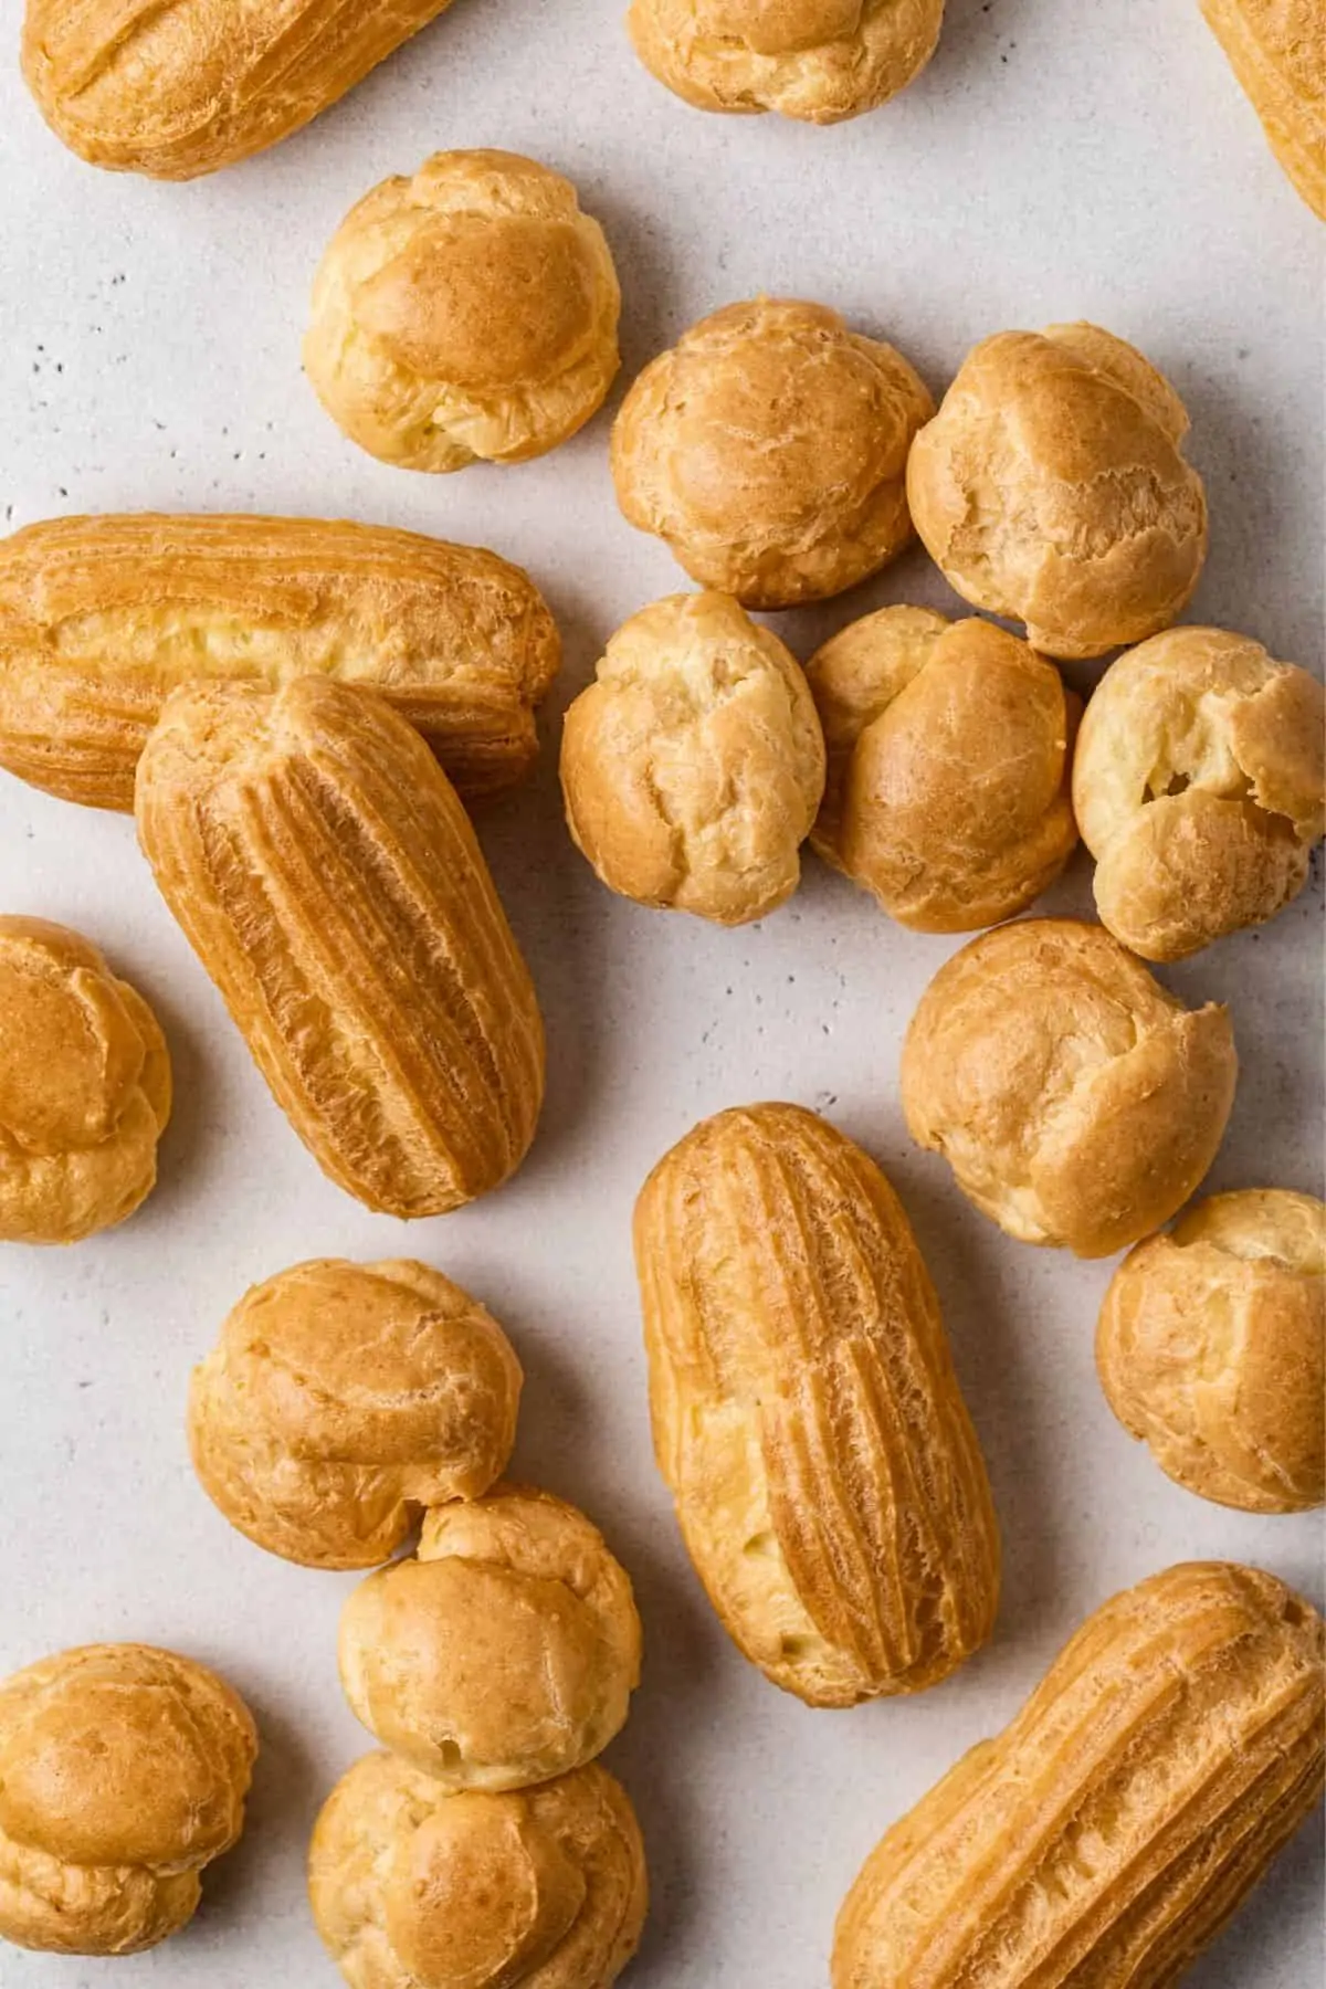
<svg viewBox="0 0 1326 1989">
<path fill-rule="evenodd" d="M 376 1567 L 419 1506 L 507 1468 L 521 1364 L 423 1263 L 320 1259 L 254 1285 L 193 1372 L 189 1450 L 231 1526 L 304 1567 Z"/>
</svg>

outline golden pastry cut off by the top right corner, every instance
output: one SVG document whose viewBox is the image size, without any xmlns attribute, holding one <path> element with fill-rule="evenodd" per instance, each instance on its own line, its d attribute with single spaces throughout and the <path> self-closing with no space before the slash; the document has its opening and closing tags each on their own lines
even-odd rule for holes
<svg viewBox="0 0 1326 1989">
<path fill-rule="evenodd" d="M 1322 0 L 1201 0 L 1276 159 L 1326 221 L 1326 18 Z"/>
</svg>

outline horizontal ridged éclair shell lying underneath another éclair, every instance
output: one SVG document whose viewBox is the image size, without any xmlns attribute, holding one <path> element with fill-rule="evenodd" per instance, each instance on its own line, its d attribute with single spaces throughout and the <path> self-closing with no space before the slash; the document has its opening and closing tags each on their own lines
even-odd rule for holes
<svg viewBox="0 0 1326 1989">
<path fill-rule="evenodd" d="M 165 698 L 209 678 L 368 684 L 469 802 L 523 780 L 557 625 L 473 545 L 304 517 L 64 517 L 0 539 L 0 766 L 133 808 Z"/>
</svg>

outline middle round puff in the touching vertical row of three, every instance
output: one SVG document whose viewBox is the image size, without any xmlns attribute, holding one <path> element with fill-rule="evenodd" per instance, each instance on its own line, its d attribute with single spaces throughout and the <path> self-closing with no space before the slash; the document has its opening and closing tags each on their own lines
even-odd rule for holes
<svg viewBox="0 0 1326 1989">
<path fill-rule="evenodd" d="M 547 1782 L 620 1730 L 640 1617 L 602 1534 L 551 1492 L 435 1506 L 419 1553 L 358 1585 L 340 1679 L 368 1730 L 445 1790 Z"/>
</svg>

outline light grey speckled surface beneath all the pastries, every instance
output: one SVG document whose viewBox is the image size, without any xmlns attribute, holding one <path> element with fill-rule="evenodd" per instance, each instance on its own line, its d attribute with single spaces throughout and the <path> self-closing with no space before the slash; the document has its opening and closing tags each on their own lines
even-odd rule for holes
<svg viewBox="0 0 1326 1989">
<path fill-rule="evenodd" d="M 630 611 L 682 585 L 612 505 L 606 416 L 519 469 L 414 477 L 350 444 L 300 378 L 314 263 L 350 203 L 445 145 L 561 167 L 606 225 L 624 378 L 759 288 L 895 338 L 938 390 L 976 338 L 1091 316 L 1183 392 L 1213 509 L 1193 619 L 1320 668 L 1320 243 L 1195 0 L 950 0 L 926 76 L 835 131 L 706 117 L 634 62 L 618 4 L 457 0 L 346 103 L 187 187 L 95 173 L 44 131 L 0 0 L 0 517 L 193 507 L 382 519 L 523 561 L 567 638 L 557 710 Z M 620 392 L 620 388 L 618 388 Z M 952 607 L 920 555 L 779 627 L 803 654 L 883 601 Z M 1089 680 L 1089 672 L 1087 672 Z M 314 1989 L 336 1981 L 302 1896 L 320 1798 L 366 1736 L 336 1685 L 352 1577 L 270 1559 L 197 1490 L 191 1362 L 254 1279 L 410 1251 L 479 1293 L 527 1366 L 517 1466 L 582 1502 L 630 1567 L 646 1675 L 608 1760 L 648 1838 L 634 1989 L 815 1989 L 861 1858 L 1018 1707 L 1079 1617 L 1169 1561 L 1258 1561 L 1320 1599 L 1316 1520 L 1252 1520 L 1171 1486 L 1091 1366 L 1109 1265 L 1016 1245 L 916 1154 L 897 1100 L 907 1018 L 952 951 L 807 859 L 761 927 L 712 931 L 602 891 L 571 849 L 557 716 L 533 788 L 481 835 L 543 994 L 549 1102 L 521 1175 L 400 1225 L 318 1175 L 157 901 L 131 823 L 0 776 L 0 905 L 82 927 L 155 1002 L 177 1112 L 161 1185 L 72 1251 L 0 1249 L 0 1671 L 133 1637 L 219 1665 L 262 1726 L 241 1848 L 195 1925 L 115 1967 L 0 1949 L 0 1989 Z M 1079 859 L 1052 909 L 1085 911 Z M 1167 975 L 1227 998 L 1243 1076 L 1213 1187 L 1318 1187 L 1320 883 L 1260 935 Z M 1006 1583 L 992 1649 L 912 1701 L 809 1713 L 714 1623 L 648 1450 L 628 1253 L 650 1164 L 696 1118 L 785 1096 L 889 1168 L 918 1227 L 994 1476 Z M 1195 1989 L 1322 1975 L 1308 1830 L 1195 1969 Z"/>
</svg>

